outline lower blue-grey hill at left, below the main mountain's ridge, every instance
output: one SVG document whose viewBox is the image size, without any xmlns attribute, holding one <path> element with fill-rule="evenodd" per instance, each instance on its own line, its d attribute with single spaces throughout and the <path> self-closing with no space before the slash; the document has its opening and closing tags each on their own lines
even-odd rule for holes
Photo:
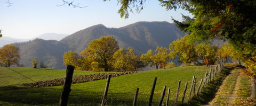
<svg viewBox="0 0 256 106">
<path fill-rule="evenodd" d="M 41 61 L 49 68 L 65 69 L 63 53 L 68 51 L 68 45 L 56 40 L 35 39 L 32 41 L 13 43 L 20 49 L 20 64 L 31 67 L 31 61 L 37 59 L 38 66 Z"/>
</svg>

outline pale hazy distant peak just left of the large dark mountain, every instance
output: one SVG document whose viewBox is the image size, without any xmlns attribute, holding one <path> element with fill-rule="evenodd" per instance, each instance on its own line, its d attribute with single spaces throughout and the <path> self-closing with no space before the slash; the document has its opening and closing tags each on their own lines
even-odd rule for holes
<svg viewBox="0 0 256 106">
<path fill-rule="evenodd" d="M 37 36 L 35 38 L 31 38 L 30 40 L 34 40 L 36 38 L 39 38 L 39 39 L 44 39 L 44 40 L 61 40 L 65 37 L 67 37 L 68 34 L 58 34 L 58 33 L 44 33 L 44 34 L 41 34 L 40 36 Z"/>
</svg>

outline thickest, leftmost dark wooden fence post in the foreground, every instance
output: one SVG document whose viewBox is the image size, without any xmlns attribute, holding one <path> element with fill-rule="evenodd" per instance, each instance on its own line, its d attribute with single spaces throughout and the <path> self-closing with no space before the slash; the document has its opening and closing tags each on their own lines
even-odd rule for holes
<svg viewBox="0 0 256 106">
<path fill-rule="evenodd" d="M 68 105 L 68 96 L 71 91 L 71 83 L 72 83 L 72 77 L 74 73 L 75 66 L 68 65 L 67 70 L 66 70 L 66 77 L 65 81 L 62 87 L 62 92 L 60 95 L 60 101 L 59 101 L 59 106 L 66 106 Z"/>
</svg>

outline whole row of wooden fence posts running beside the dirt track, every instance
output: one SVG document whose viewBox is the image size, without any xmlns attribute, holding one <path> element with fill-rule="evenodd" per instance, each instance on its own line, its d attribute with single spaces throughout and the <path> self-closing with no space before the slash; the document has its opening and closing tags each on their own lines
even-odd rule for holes
<svg viewBox="0 0 256 106">
<path fill-rule="evenodd" d="M 199 93 L 201 93 L 204 88 L 209 85 L 210 81 L 213 81 L 217 75 L 222 72 L 224 67 L 224 64 L 221 63 L 220 65 L 216 65 L 215 68 L 210 68 L 210 71 L 206 71 L 204 78 L 202 78 L 199 82 L 198 87 L 196 88 L 196 77 L 193 76 L 192 78 L 192 82 L 190 85 L 190 90 L 189 90 L 189 94 L 188 94 L 188 101 L 191 100 L 191 98 L 194 98 L 195 96 L 198 96 Z M 62 89 L 62 93 L 61 93 L 61 98 L 60 98 L 60 102 L 59 105 L 67 105 L 67 100 L 68 100 L 68 95 L 70 92 L 70 77 L 68 77 L 68 74 L 73 74 L 74 72 L 74 68 L 73 66 L 68 66 L 67 67 L 67 77 L 65 80 L 65 83 L 63 85 L 63 89 Z M 71 77 L 72 78 L 72 77 Z M 102 100 L 101 100 L 101 106 L 106 105 L 107 104 L 107 94 L 108 94 L 108 87 L 109 87 L 109 83 L 110 83 L 110 79 L 111 79 L 111 75 L 108 75 L 107 78 L 107 83 L 106 83 L 106 87 L 105 87 L 105 92 L 102 96 Z M 155 86 L 156 86 L 156 82 L 157 82 L 157 77 L 155 77 L 154 82 L 153 82 L 153 86 L 151 87 L 151 92 L 150 92 L 150 96 L 149 96 L 149 102 L 148 105 L 151 106 L 152 105 L 152 100 L 153 100 L 153 95 L 154 95 L 154 90 L 155 90 Z M 180 93 L 180 85 L 181 85 L 181 81 L 178 82 L 178 87 L 177 87 L 177 93 L 175 96 L 175 103 L 178 103 L 178 98 L 179 98 L 179 93 Z M 188 87 L 188 83 L 185 83 L 185 88 L 183 90 L 182 93 L 182 99 L 181 99 L 181 104 L 179 105 L 183 105 L 184 101 L 185 101 L 185 96 L 187 93 L 187 87 Z M 166 91 L 166 85 L 163 86 L 163 91 L 162 91 L 162 95 L 161 95 L 161 99 L 159 100 L 158 105 L 169 105 L 169 98 L 170 98 L 170 89 L 168 89 L 167 91 L 167 98 L 166 98 L 166 104 L 163 103 L 163 99 L 165 96 L 165 91 Z M 133 99 L 133 106 L 137 105 L 137 98 L 138 98 L 138 93 L 139 93 L 139 88 L 136 89 L 135 94 L 134 94 L 134 99 Z M 62 95 L 66 95 L 65 97 L 63 97 Z M 176 104 L 178 105 L 178 104 Z"/>
</svg>

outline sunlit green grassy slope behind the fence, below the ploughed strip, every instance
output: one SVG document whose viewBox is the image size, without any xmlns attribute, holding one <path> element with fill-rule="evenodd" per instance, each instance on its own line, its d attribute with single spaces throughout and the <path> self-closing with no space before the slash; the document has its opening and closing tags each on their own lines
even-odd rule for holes
<svg viewBox="0 0 256 106">
<path fill-rule="evenodd" d="M 197 77 L 197 86 L 199 79 L 203 78 L 209 67 L 190 66 L 176 67 L 169 69 L 158 69 L 136 74 L 123 75 L 111 78 L 108 105 L 131 105 L 133 95 L 137 87 L 140 88 L 138 95 L 138 105 L 146 105 L 149 98 L 154 77 L 158 77 L 154 94 L 154 105 L 157 105 L 163 85 L 170 87 L 170 102 L 173 102 L 177 91 L 177 83 L 181 80 L 180 98 L 188 82 L 188 90 L 193 76 Z M 98 105 L 101 101 L 106 80 L 73 84 L 69 96 L 69 105 Z M 20 89 L 0 91 L 0 104 L 3 105 L 57 105 L 62 86 L 42 87 L 36 89 Z M 1 89 L 1 88 L 0 88 Z M 188 93 L 187 93 L 188 95 Z M 166 99 L 166 96 L 165 96 Z M 185 99 L 185 101 L 187 98 Z M 164 100 L 166 101 L 166 100 Z"/>
</svg>

